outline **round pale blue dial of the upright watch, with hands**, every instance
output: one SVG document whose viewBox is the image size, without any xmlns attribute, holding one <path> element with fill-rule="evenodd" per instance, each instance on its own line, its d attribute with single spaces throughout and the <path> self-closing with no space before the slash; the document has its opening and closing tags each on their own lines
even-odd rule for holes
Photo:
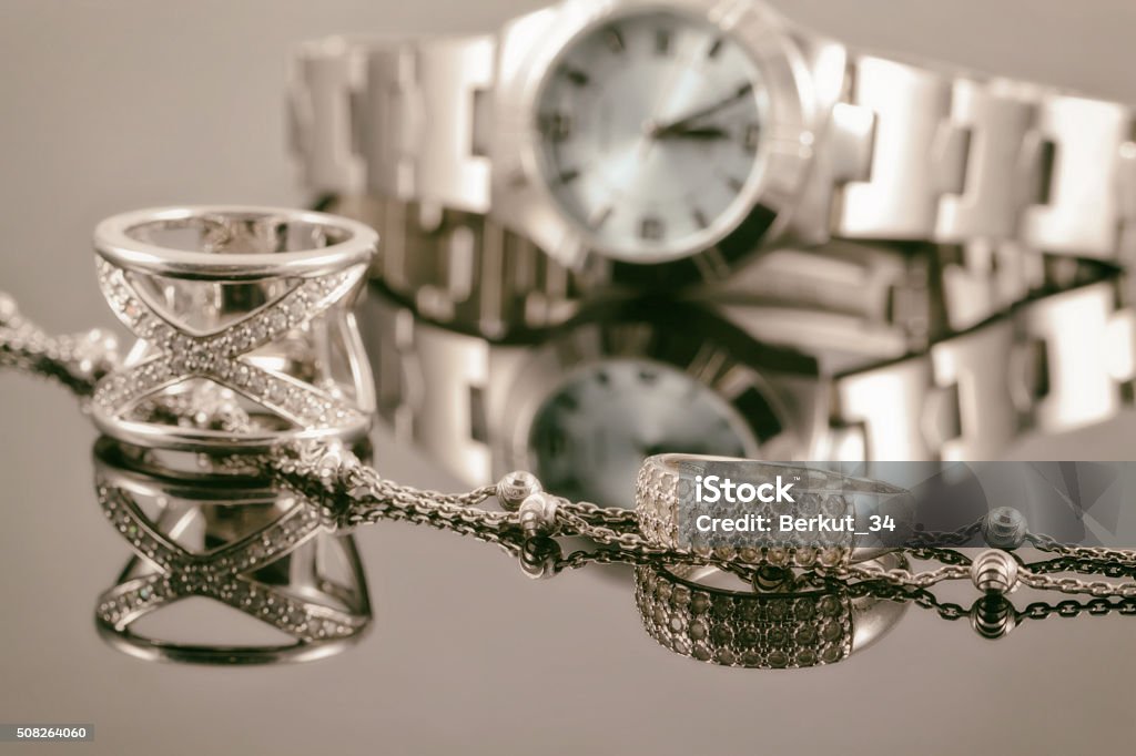
<svg viewBox="0 0 1136 756">
<path fill-rule="evenodd" d="M 601 252 L 686 257 L 744 218 L 767 110 L 758 66 L 717 26 L 623 16 L 576 40 L 541 90 L 545 182 Z"/>
</svg>

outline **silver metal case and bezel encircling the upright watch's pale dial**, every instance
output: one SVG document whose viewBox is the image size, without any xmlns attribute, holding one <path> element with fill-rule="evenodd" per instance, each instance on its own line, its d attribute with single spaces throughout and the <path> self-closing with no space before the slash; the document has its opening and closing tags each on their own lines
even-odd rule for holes
<svg viewBox="0 0 1136 756">
<path fill-rule="evenodd" d="M 728 211 L 729 221 L 716 234 L 698 240 L 694 249 L 638 262 L 607 249 L 561 209 L 542 168 L 545 158 L 536 110 L 548 77 L 577 40 L 603 24 L 651 11 L 703 18 L 728 34 L 757 66 L 769 109 L 765 138 L 754 158 L 760 167 L 751 173 Z M 541 44 L 534 44 L 536 40 Z M 573 269 L 677 266 L 690 280 L 693 263 L 698 277 L 721 277 L 787 215 L 801 191 L 811 154 L 810 114 L 800 83 L 805 69 L 801 50 L 782 17 L 757 0 L 568 0 L 523 17 L 504 30 L 498 65 L 491 146 L 494 215 Z"/>
</svg>

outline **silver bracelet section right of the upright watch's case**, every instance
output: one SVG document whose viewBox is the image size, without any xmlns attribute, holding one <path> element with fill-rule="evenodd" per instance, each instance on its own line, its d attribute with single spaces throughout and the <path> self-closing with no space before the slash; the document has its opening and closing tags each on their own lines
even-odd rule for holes
<svg viewBox="0 0 1136 756">
<path fill-rule="evenodd" d="M 835 235 L 1016 240 L 1050 254 L 1130 262 L 1133 108 L 858 54 L 846 93 L 872 137 L 861 175 L 838 191 Z"/>
</svg>

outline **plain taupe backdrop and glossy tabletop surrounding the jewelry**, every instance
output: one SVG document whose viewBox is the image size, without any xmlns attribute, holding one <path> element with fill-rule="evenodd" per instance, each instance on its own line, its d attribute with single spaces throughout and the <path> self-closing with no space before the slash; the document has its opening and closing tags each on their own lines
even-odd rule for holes
<svg viewBox="0 0 1136 756">
<path fill-rule="evenodd" d="M 0 0 L 0 287 L 51 329 L 109 322 L 89 253 L 100 218 L 307 200 L 284 159 L 296 42 L 482 31 L 536 5 Z M 778 5 L 850 42 L 1136 102 L 1130 0 Z M 377 616 L 353 652 L 137 662 L 92 627 L 127 558 L 91 490 L 93 431 L 57 387 L 11 375 L 0 427 L 0 721 L 97 725 L 94 744 L 36 753 L 1129 753 L 1136 736 L 1131 620 L 1050 620 L 995 644 L 914 610 L 837 666 L 726 670 L 650 640 L 625 580 L 531 582 L 484 545 L 402 524 L 360 537 Z M 1124 459 L 1134 432 L 1128 415 L 1014 455 Z M 377 438 L 387 474 L 454 487 Z"/>
</svg>

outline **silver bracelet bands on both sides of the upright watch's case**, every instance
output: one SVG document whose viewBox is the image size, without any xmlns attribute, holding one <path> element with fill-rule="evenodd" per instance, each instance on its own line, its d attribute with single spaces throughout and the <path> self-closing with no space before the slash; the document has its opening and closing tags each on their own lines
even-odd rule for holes
<svg viewBox="0 0 1136 756">
<path fill-rule="evenodd" d="M 490 213 L 495 54 L 492 36 L 306 45 L 290 96 L 306 185 Z M 840 137 L 817 146 L 841 152 L 833 236 L 1130 261 L 1131 108 L 855 52 L 843 76 Z"/>
</svg>

